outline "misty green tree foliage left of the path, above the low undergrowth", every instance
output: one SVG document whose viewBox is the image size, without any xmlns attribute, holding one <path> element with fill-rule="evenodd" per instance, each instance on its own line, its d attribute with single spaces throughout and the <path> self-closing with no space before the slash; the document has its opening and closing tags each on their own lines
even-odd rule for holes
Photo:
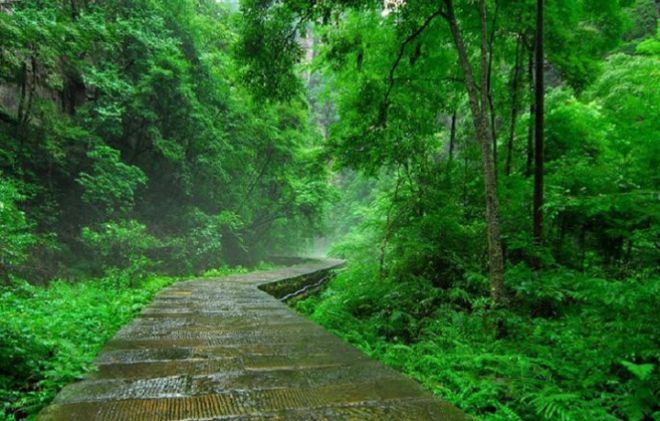
<svg viewBox="0 0 660 421">
<path fill-rule="evenodd" d="M 2 276 L 198 272 L 258 261 L 317 228 L 331 193 L 317 131 L 303 100 L 242 88 L 227 7 L 2 7 Z"/>
</svg>

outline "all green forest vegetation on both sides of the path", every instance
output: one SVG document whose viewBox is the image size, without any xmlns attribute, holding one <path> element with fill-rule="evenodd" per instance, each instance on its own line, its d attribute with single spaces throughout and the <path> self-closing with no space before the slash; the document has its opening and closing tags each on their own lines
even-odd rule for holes
<svg viewBox="0 0 660 421">
<path fill-rule="evenodd" d="M 660 418 L 653 0 L 24 0 L 0 40 L 0 415 L 325 233 L 298 309 L 475 417 Z"/>
</svg>

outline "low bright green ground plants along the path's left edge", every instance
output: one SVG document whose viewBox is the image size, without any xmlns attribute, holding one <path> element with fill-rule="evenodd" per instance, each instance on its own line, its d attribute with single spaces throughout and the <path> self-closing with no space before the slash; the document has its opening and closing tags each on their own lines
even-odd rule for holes
<svg viewBox="0 0 660 421">
<path fill-rule="evenodd" d="M 222 267 L 202 276 L 251 270 Z M 48 287 L 19 280 L 0 286 L 0 420 L 33 418 L 63 386 L 93 370 L 97 353 L 121 326 L 160 290 L 183 279 L 151 276 L 131 283 L 112 272 Z"/>
</svg>

